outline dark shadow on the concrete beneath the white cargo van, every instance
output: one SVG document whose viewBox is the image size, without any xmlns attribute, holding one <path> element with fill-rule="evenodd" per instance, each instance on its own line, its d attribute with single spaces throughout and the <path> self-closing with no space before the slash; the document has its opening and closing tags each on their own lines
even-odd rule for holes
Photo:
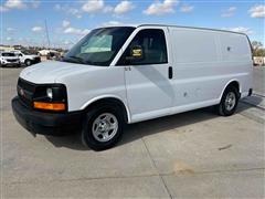
<svg viewBox="0 0 265 199">
<path fill-rule="evenodd" d="M 251 105 L 239 104 L 237 114 L 252 107 Z M 160 117 L 147 122 L 127 125 L 121 140 L 116 147 L 138 140 L 148 135 L 155 135 L 158 133 L 176 129 L 178 127 L 200 123 L 203 121 L 210 121 L 220 117 L 215 114 L 213 107 L 200 108 L 187 113 L 176 114 L 171 116 Z M 55 147 L 66 147 L 74 150 L 89 150 L 89 148 L 82 145 L 80 133 L 73 135 L 53 137 L 46 136 L 46 139 L 51 142 Z"/>
</svg>

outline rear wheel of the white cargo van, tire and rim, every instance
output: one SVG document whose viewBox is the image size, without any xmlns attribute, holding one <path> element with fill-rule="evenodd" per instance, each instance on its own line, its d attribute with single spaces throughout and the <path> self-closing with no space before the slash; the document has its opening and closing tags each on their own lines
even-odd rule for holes
<svg viewBox="0 0 265 199">
<path fill-rule="evenodd" d="M 232 98 L 234 96 L 234 101 L 231 100 L 231 103 L 229 103 L 230 102 L 229 98 L 231 98 L 231 96 Z M 216 111 L 219 115 L 222 115 L 222 116 L 233 115 L 236 111 L 239 100 L 240 100 L 239 90 L 234 86 L 226 87 L 220 104 L 216 106 Z"/>
</svg>

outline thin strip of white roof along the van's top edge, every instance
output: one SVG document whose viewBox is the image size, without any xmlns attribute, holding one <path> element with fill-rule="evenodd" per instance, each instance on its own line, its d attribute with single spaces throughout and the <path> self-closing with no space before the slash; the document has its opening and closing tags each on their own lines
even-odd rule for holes
<svg viewBox="0 0 265 199">
<path fill-rule="evenodd" d="M 172 28 L 183 28 L 183 29 L 197 29 L 197 30 L 208 30 L 208 31 L 219 31 L 219 32 L 229 32 L 229 33 L 235 33 L 235 34 L 243 34 L 246 35 L 243 32 L 234 32 L 234 31 L 230 31 L 230 30 L 222 30 L 222 29 L 211 29 L 211 28 L 199 28 L 199 27 L 184 27 L 184 25 L 170 25 L 170 24 L 152 24 L 152 23 L 145 23 L 145 24 L 114 24 L 114 25 L 105 25 L 105 27 L 134 27 L 134 28 L 138 28 L 138 27 L 172 27 Z"/>
</svg>

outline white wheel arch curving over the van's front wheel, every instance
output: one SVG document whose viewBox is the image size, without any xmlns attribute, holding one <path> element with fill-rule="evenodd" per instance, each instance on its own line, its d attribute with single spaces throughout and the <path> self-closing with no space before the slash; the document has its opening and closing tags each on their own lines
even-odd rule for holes
<svg viewBox="0 0 265 199">
<path fill-rule="evenodd" d="M 95 97 L 95 98 L 88 101 L 86 104 L 84 104 L 82 106 L 82 109 L 83 111 L 87 111 L 87 109 L 92 108 L 93 106 L 97 106 L 98 104 L 106 104 L 106 103 L 107 104 L 115 104 L 118 107 L 120 107 L 121 111 L 123 111 L 123 115 L 124 115 L 125 122 L 126 123 L 130 123 L 130 112 L 129 112 L 129 108 L 126 105 L 126 103 L 124 103 L 124 101 L 120 97 L 118 97 L 118 96 L 104 95 L 104 96 Z"/>
</svg>

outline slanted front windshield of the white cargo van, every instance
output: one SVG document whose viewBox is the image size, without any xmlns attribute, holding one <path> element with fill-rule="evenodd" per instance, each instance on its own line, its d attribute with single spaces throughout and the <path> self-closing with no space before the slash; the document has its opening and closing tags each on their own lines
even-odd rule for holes
<svg viewBox="0 0 265 199">
<path fill-rule="evenodd" d="M 107 66 L 134 30 L 129 27 L 95 29 L 75 44 L 63 61 Z"/>
</svg>

